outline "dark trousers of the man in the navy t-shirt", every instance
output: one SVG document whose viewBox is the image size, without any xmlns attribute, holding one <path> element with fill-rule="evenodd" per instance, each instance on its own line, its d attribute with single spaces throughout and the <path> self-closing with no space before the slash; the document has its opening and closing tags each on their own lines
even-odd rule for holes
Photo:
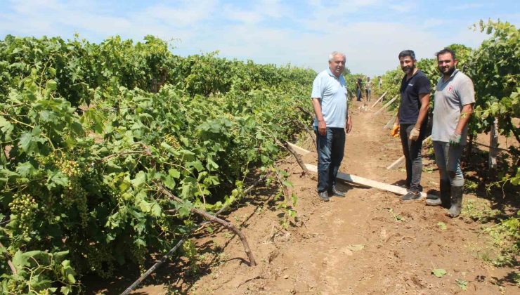
<svg viewBox="0 0 520 295">
<path fill-rule="evenodd" d="M 424 130 L 421 128 L 417 140 L 409 140 L 410 131 L 415 124 L 401 124 L 399 133 L 401 135 L 401 145 L 403 145 L 403 155 L 406 161 L 406 186 L 412 192 L 420 191 L 422 173 L 422 140 L 424 140 Z"/>
</svg>

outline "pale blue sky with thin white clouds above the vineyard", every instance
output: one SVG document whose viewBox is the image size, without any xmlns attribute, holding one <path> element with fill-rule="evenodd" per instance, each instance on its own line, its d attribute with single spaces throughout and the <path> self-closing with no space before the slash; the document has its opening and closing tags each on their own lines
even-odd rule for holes
<svg viewBox="0 0 520 295">
<path fill-rule="evenodd" d="M 479 46 L 479 20 L 519 27 L 520 1 L 64 1 L 0 0 L 0 38 L 74 33 L 90 41 L 118 34 L 140 41 L 146 34 L 172 40 L 174 53 L 219 51 L 257 63 L 323 70 L 331 51 L 346 53 L 352 72 L 382 74 L 412 49 L 432 57 L 443 46 Z"/>
</svg>

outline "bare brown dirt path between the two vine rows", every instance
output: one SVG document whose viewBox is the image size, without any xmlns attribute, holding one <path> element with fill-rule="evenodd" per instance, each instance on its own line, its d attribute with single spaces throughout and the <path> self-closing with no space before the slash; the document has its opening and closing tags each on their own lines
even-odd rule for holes
<svg viewBox="0 0 520 295">
<path fill-rule="evenodd" d="M 374 111 L 363 112 L 359 106 L 352 107 L 353 131 L 346 139 L 341 171 L 386 183 L 401 181 L 403 169 L 385 168 L 402 155 L 398 138 L 382 129 L 389 115 L 373 117 Z M 316 164 L 314 153 L 304 160 Z M 424 191 L 436 190 L 433 161 L 424 163 Z M 226 232 L 215 232 L 196 241 L 207 249 L 211 267 L 195 282 L 178 280 L 174 289 L 190 294 L 455 294 L 462 291 L 459 280 L 466 282 L 469 294 L 519 291 L 503 280 L 512 269 L 493 268 L 476 258 L 484 242 L 479 224 L 448 218 L 444 209 L 424 206 L 424 200 L 403 203 L 390 192 L 348 184 L 342 185 L 348 190 L 345 198 L 321 202 L 316 182 L 302 177 L 297 164 L 290 162 L 287 170 L 299 198 L 296 226 L 280 226 L 280 211 L 262 203 L 268 195 L 227 217 L 242 224 L 259 265 L 247 266 L 237 237 L 228 242 Z M 437 268 L 446 275 L 434 276 L 431 270 Z M 167 293 L 162 286 L 138 291 Z"/>
</svg>

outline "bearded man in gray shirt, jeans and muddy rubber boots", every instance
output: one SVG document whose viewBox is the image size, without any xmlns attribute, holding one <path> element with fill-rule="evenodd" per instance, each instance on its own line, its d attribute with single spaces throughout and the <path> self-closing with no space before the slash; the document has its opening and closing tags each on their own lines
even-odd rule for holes
<svg viewBox="0 0 520 295">
<path fill-rule="evenodd" d="M 435 162 L 441 176 L 441 197 L 428 198 L 426 204 L 450 207 L 448 215 L 457 217 L 462 209 L 464 186 L 460 157 L 466 145 L 467 123 L 473 112 L 475 91 L 472 79 L 455 68 L 455 52 L 444 48 L 436 55 L 438 70 L 442 76 L 438 79 L 435 89 L 431 139 L 434 142 Z"/>
</svg>

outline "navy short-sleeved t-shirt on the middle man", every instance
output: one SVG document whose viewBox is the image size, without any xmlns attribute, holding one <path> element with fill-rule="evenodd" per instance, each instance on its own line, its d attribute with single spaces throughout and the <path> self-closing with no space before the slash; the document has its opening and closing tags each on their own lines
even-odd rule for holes
<svg viewBox="0 0 520 295">
<path fill-rule="evenodd" d="M 401 105 L 399 105 L 399 124 L 415 124 L 421 108 L 420 94 L 430 93 L 430 81 L 421 71 L 417 70 L 409 79 L 401 81 Z M 422 124 L 426 124 L 426 119 Z"/>
</svg>

